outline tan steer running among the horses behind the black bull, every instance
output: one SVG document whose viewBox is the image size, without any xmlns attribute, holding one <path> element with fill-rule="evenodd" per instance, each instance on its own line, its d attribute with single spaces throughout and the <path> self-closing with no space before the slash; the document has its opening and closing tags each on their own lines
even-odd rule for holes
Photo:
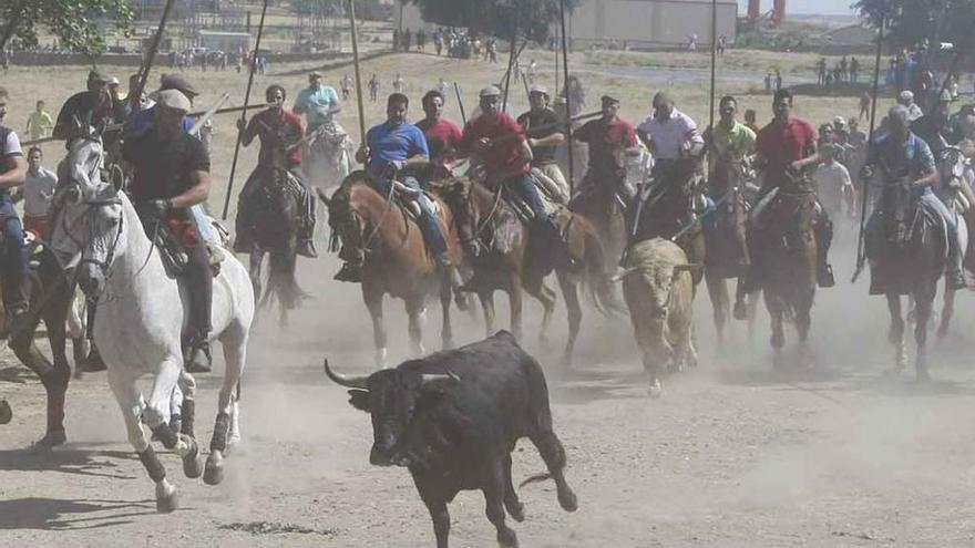
<svg viewBox="0 0 975 548">
<path fill-rule="evenodd" d="M 623 294 L 649 375 L 648 393 L 660 395 L 661 366 L 697 365 L 694 348 L 694 281 L 680 246 L 663 238 L 633 245 L 626 254 Z"/>
</svg>

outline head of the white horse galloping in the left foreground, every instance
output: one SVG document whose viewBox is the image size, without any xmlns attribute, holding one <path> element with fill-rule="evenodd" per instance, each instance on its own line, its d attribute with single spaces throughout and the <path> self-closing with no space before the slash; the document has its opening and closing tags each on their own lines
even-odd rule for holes
<svg viewBox="0 0 975 548">
<path fill-rule="evenodd" d="M 124 252 L 125 195 L 114 186 L 71 182 L 54 194 L 49 247 L 65 269 L 76 268 L 79 288 L 90 299 L 105 289 L 115 259 Z"/>
</svg>

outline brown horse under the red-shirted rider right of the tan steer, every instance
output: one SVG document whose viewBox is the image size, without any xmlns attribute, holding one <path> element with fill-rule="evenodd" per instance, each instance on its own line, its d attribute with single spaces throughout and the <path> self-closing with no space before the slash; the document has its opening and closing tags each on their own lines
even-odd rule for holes
<svg viewBox="0 0 975 548">
<path fill-rule="evenodd" d="M 784 365 L 786 318 L 792 319 L 799 334 L 801 358 L 808 359 L 807 344 L 817 288 L 817 242 L 812 227 L 815 210 L 815 192 L 804 175 L 787 177 L 752 210 L 748 231 L 751 285 L 762 289 L 771 317 L 776 369 Z"/>
</svg>

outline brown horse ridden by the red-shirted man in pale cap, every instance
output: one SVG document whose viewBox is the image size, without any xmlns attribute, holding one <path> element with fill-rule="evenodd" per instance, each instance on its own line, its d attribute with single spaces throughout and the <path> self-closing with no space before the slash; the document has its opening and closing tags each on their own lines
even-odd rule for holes
<svg viewBox="0 0 975 548">
<path fill-rule="evenodd" d="M 563 210 L 556 219 L 567 254 L 547 252 L 530 246 L 528 228 L 502 197 L 468 178 L 450 178 L 433 185 L 453 211 L 458 234 L 471 268 L 470 282 L 484 309 L 486 332 L 494 332 L 495 290 L 506 291 L 511 304 L 511 330 L 522 333 L 522 292 L 538 299 L 544 309 L 541 338 L 547 340 L 548 324 L 555 308 L 555 293 L 544 285 L 553 270 L 568 309 L 568 341 L 563 359 L 572 362 L 576 337 L 582 324 L 578 285 L 585 283 L 601 311 L 615 313 L 622 304 L 615 294 L 606 268 L 606 257 L 593 225 L 582 215 Z M 547 257 L 543 257 L 547 256 Z"/>
</svg>

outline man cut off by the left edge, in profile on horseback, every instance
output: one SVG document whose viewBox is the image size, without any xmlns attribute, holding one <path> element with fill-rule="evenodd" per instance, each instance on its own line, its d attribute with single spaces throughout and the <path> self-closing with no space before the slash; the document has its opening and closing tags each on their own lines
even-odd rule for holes
<svg viewBox="0 0 975 548">
<path fill-rule="evenodd" d="M 3 260 L 0 262 L 0 280 L 3 282 L 3 304 L 7 307 L 8 325 L 12 325 L 28 310 L 30 282 L 28 280 L 27 246 L 23 226 L 13 209 L 10 189 L 23 184 L 28 165 L 20 148 L 17 133 L 2 125 L 7 116 L 7 89 L 0 87 L 0 219 L 6 235 Z"/>
</svg>

